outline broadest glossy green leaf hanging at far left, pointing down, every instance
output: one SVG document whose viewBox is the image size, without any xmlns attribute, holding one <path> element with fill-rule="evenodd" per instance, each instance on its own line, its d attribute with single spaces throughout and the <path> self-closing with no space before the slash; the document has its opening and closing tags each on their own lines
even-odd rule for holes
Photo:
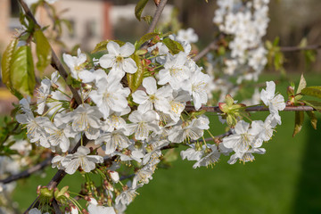
<svg viewBox="0 0 321 214">
<path fill-rule="evenodd" d="M 14 89 L 24 95 L 33 95 L 36 78 L 30 46 L 21 46 L 13 53 L 10 73 Z"/>
</svg>

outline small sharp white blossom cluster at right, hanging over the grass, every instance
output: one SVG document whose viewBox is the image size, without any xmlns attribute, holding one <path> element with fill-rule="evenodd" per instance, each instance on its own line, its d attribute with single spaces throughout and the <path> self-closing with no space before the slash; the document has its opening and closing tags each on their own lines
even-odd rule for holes
<svg viewBox="0 0 321 214">
<path fill-rule="evenodd" d="M 189 144 L 190 148 L 181 152 L 183 159 L 196 161 L 193 168 L 209 166 L 218 162 L 221 154 L 230 156 L 229 164 L 237 160 L 247 162 L 253 161 L 253 153 L 263 154 L 265 149 L 261 148 L 263 142 L 267 142 L 273 136 L 276 125 L 281 125 L 281 117 L 278 111 L 285 108 L 284 97 L 276 94 L 276 84 L 267 82 L 267 89 L 262 89 L 260 99 L 269 108 L 270 114 L 265 121 L 254 120 L 250 124 L 243 119 L 238 120 L 231 135 L 223 138 L 220 144 Z"/>
</svg>

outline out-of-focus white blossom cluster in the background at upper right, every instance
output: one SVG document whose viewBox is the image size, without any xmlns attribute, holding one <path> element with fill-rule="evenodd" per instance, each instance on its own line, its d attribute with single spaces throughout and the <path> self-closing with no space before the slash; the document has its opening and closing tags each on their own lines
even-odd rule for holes
<svg viewBox="0 0 321 214">
<path fill-rule="evenodd" d="M 268 28 L 269 0 L 219 0 L 217 3 L 213 21 L 225 35 L 230 51 L 220 58 L 210 59 L 212 65 L 208 73 L 218 73 L 220 69 L 216 67 L 223 66 L 223 75 L 216 78 L 217 86 L 212 89 L 224 87 L 222 95 L 226 91 L 234 95 L 237 88 L 230 84 L 230 78 L 236 78 L 238 84 L 243 80 L 257 81 L 268 62 L 262 37 Z M 223 65 L 220 64 L 222 61 Z"/>
</svg>

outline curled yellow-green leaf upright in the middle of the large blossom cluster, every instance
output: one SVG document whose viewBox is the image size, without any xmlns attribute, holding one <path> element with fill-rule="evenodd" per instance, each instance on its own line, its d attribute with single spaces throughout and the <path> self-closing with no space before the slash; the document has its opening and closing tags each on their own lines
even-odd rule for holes
<svg viewBox="0 0 321 214">
<path fill-rule="evenodd" d="M 137 88 L 142 85 L 144 78 L 144 66 L 138 55 L 134 54 L 132 56 L 133 60 L 136 62 L 137 71 L 134 74 L 127 74 L 128 86 L 132 90 L 132 93 L 137 90 Z"/>
</svg>

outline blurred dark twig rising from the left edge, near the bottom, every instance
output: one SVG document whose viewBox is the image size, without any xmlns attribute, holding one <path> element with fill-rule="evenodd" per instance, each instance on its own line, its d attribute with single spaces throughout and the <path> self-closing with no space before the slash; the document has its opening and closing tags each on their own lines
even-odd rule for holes
<svg viewBox="0 0 321 214">
<path fill-rule="evenodd" d="M 8 184 L 8 183 L 11 183 L 12 181 L 16 181 L 16 180 L 19 180 L 21 178 L 25 178 L 25 177 L 29 177 L 31 176 L 33 173 L 41 170 L 41 169 L 45 169 L 46 166 L 50 165 L 51 163 L 51 160 L 52 160 L 52 157 L 49 157 L 47 159 L 45 159 L 45 161 L 42 161 L 40 163 L 38 163 L 37 165 L 27 169 L 27 170 L 24 170 L 18 174 L 15 174 L 15 175 L 12 175 L 10 177 L 7 177 L 5 179 L 2 179 L 0 180 L 0 183 L 3 183 L 4 185 L 5 184 Z"/>
</svg>

